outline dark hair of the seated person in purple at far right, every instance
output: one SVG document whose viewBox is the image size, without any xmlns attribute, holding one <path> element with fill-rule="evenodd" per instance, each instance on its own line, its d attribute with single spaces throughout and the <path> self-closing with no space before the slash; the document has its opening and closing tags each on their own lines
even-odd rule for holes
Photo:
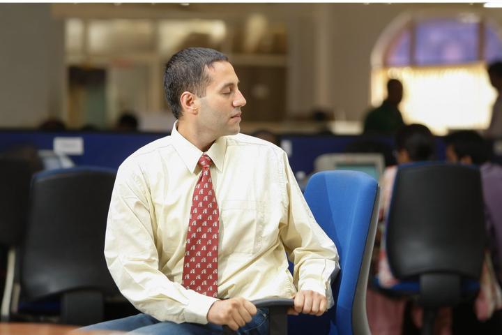
<svg viewBox="0 0 502 335">
<path fill-rule="evenodd" d="M 444 141 L 452 146 L 459 159 L 469 156 L 476 165 L 489 160 L 488 143 L 476 131 L 456 131 L 446 136 Z"/>
</svg>

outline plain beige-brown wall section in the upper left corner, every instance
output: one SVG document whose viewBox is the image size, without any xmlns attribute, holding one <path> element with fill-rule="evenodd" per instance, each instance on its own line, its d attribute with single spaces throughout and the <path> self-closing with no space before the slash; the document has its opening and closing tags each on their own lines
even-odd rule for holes
<svg viewBox="0 0 502 335">
<path fill-rule="evenodd" d="M 50 4 L 0 6 L 0 126 L 36 126 L 63 110 L 63 23 Z"/>
</svg>

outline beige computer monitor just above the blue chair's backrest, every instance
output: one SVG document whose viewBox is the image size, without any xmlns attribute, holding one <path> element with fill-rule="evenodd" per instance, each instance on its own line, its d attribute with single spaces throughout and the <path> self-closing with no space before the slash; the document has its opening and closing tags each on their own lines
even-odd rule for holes
<svg viewBox="0 0 502 335">
<path fill-rule="evenodd" d="M 355 170 L 379 180 L 385 161 L 382 154 L 324 154 L 314 161 L 314 171 Z"/>
</svg>

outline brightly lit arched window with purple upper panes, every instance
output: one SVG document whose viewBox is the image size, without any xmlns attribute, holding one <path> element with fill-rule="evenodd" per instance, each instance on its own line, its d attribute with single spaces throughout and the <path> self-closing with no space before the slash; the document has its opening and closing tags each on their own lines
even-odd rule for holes
<svg viewBox="0 0 502 335">
<path fill-rule="evenodd" d="M 403 82 L 406 123 L 438 135 L 452 129 L 487 128 L 496 91 L 486 64 L 502 59 L 496 25 L 473 13 L 400 17 L 372 54 L 372 103 L 385 98 L 390 77 Z"/>
</svg>

